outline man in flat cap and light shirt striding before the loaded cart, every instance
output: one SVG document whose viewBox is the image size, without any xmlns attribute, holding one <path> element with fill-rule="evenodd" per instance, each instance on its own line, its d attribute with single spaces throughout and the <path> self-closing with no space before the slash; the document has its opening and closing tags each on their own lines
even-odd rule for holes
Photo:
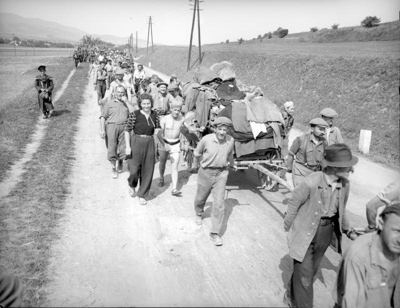
<svg viewBox="0 0 400 308">
<path fill-rule="evenodd" d="M 205 135 L 198 142 L 194 150 L 192 171 L 200 169 L 197 176 L 197 191 L 194 198 L 194 210 L 196 212 L 196 225 L 202 224 L 204 205 L 212 192 L 211 230 L 210 240 L 215 246 L 222 245 L 219 236 L 225 211 L 224 197 L 225 185 L 228 178 L 227 167 L 236 170 L 233 163 L 233 138 L 226 135 L 232 121 L 226 117 L 217 117 L 212 122 L 214 133 Z M 201 156 L 200 162 L 198 162 Z"/>
</svg>

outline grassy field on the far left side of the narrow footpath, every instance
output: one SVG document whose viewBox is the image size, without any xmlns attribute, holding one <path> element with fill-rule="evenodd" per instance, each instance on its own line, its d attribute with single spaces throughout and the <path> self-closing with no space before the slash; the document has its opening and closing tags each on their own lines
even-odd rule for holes
<svg viewBox="0 0 400 308">
<path fill-rule="evenodd" d="M 0 180 L 15 160 L 21 157 L 23 149 L 31 140 L 33 128 L 41 115 L 37 103 L 37 92 L 34 78 L 38 74 L 37 67 L 46 66 L 47 73 L 57 78 L 53 96 L 61 87 L 65 78 L 73 68 L 67 57 L 1 57 L 0 75 L 3 100 L 0 103 Z M 55 103 L 57 113 L 58 102 Z"/>
</svg>

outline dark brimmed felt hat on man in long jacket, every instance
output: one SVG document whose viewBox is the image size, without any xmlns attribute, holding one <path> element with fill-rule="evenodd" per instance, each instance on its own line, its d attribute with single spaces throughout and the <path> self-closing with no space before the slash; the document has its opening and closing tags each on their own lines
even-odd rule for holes
<svg viewBox="0 0 400 308">
<path fill-rule="evenodd" d="M 327 146 L 322 158 L 322 164 L 331 167 L 352 167 L 357 162 L 358 157 L 352 155 L 350 148 L 344 143 Z"/>
</svg>

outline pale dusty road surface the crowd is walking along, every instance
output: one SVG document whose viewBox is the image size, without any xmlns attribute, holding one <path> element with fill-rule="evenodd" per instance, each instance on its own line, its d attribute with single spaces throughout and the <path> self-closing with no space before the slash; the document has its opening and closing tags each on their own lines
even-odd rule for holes
<svg viewBox="0 0 400 308">
<path fill-rule="evenodd" d="M 84 101 L 71 194 L 60 240 L 51 250 L 45 306 L 283 307 L 292 269 L 282 219 L 290 193 L 282 188 L 262 190 L 254 170 L 230 172 L 224 242 L 215 247 L 208 239 L 209 207 L 203 225 L 194 223 L 197 175 L 180 166 L 182 195 L 174 197 L 169 162 L 165 186 L 156 185 L 157 162 L 147 205 L 140 206 L 138 198 L 128 195 L 125 164 L 118 179 L 111 178 L 90 82 Z M 354 226 L 365 226 L 365 203 L 398 176 L 375 164 L 362 164 L 350 179 L 354 183 L 348 214 Z M 339 258 L 330 249 L 323 258 L 314 283 L 314 307 L 333 306 Z"/>
</svg>

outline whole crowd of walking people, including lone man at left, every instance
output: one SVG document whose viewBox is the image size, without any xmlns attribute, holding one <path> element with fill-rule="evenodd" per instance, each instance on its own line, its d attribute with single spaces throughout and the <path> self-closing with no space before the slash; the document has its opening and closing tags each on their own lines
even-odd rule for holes
<svg viewBox="0 0 400 308">
<path fill-rule="evenodd" d="M 82 52 L 82 61 L 84 54 Z M 126 161 L 128 193 L 138 197 L 140 205 L 145 205 L 154 165 L 159 160 L 157 185 L 162 187 L 169 156 L 170 193 L 177 196 L 181 194 L 177 182 L 182 129 L 198 134 L 201 138 L 193 152 L 192 163 L 192 172 L 198 172 L 193 223 L 202 224 L 204 205 L 212 192 L 209 238 L 214 245 L 222 245 L 219 232 L 224 217 L 228 168 L 236 170 L 236 143 L 229 133 L 235 128 L 233 112 L 231 118 L 215 116 L 207 125 L 201 125 L 202 119 L 197 118 L 198 125 L 191 125 L 184 116 L 194 110 L 187 100 L 191 94 L 184 94 L 187 83 L 182 84 L 177 76 L 165 81 L 154 74 L 148 76 L 130 55 L 114 50 L 98 50 L 94 56 L 89 51 L 86 56 L 90 56 L 89 77 L 101 109 L 100 137 L 105 139 L 111 177 L 118 177 Z M 43 103 L 42 93 L 51 93 L 52 87 L 41 81 L 43 69 L 44 66 L 39 67 L 41 77 L 38 76 L 35 87 L 43 115 L 49 117 L 52 106 Z M 197 99 L 215 93 L 221 80 L 230 82 L 231 91 L 245 87 L 235 81 L 235 75 L 219 81 L 211 78 L 200 82 L 200 79 L 197 78 L 199 87 L 190 85 L 198 90 Z M 256 92 L 254 87 L 251 90 Z M 242 94 L 246 96 L 245 91 Z M 218 104 L 226 102 L 222 101 Z M 223 108 L 228 105 L 229 101 Z M 206 111 L 218 106 L 209 105 Z M 346 203 L 350 192 L 348 177 L 358 158 L 344 143 L 339 128 L 333 125 L 338 113 L 330 107 L 323 108 L 319 117 L 309 121 L 309 130 L 297 137 L 289 148 L 294 107 L 292 101 L 286 101 L 280 115 L 283 125 L 281 153 L 287 161 L 287 172 L 292 175 L 294 187 L 283 222 L 289 255 L 293 259 L 293 272 L 283 302 L 289 307 L 312 307 L 313 280 L 322 257 L 331 244 L 341 254 L 341 239 L 347 236 L 355 241 L 344 253 L 338 269 L 333 290 L 336 307 L 400 308 L 400 183 L 389 184 L 366 205 L 368 226 L 365 234 L 357 236 L 347 219 Z M 199 110 L 195 112 L 199 114 Z M 210 129 L 207 134 L 205 126 Z"/>
</svg>

